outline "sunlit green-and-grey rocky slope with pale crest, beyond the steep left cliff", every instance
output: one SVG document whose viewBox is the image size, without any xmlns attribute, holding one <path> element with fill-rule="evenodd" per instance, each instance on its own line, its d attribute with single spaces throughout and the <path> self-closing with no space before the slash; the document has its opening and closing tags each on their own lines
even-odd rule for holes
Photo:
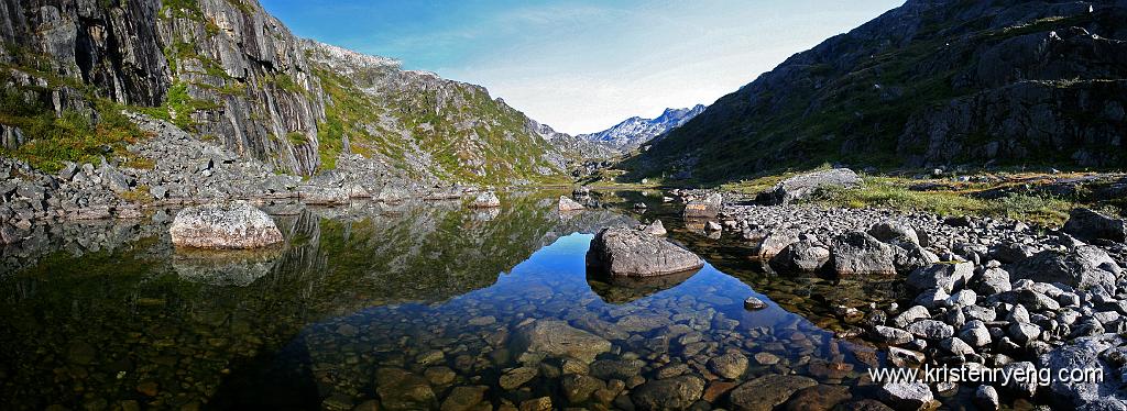
<svg viewBox="0 0 1127 411">
<path fill-rule="evenodd" d="M 538 123 L 480 86 L 317 42 L 304 48 L 328 96 L 323 163 L 358 153 L 419 179 L 490 182 L 567 167 Z"/>
</svg>

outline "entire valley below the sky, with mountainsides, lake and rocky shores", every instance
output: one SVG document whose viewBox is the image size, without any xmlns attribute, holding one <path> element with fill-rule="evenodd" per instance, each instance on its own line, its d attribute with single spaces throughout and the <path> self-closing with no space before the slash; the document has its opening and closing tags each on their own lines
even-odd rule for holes
<svg viewBox="0 0 1127 411">
<path fill-rule="evenodd" d="M 256 0 L 2 1 L 0 403 L 1127 409 L 1125 56 L 908 0 L 569 134 Z M 944 366 L 1101 378 L 873 374 Z"/>
</svg>

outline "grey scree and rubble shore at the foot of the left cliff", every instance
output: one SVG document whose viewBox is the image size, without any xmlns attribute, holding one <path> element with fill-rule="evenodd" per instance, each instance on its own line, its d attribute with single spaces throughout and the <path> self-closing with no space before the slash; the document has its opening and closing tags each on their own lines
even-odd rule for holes
<svg viewBox="0 0 1127 411">
<path fill-rule="evenodd" d="M 169 123 L 140 115 L 133 119 L 152 137 L 131 145 L 128 159 L 68 163 L 51 175 L 0 157 L 0 243 L 23 241 L 39 224 L 136 218 L 144 209 L 169 206 L 234 199 L 393 204 L 410 198 L 461 198 L 478 190 L 419 182 L 385 164 L 348 155 L 338 160 L 336 170 L 302 179 L 201 141 Z"/>
</svg>

